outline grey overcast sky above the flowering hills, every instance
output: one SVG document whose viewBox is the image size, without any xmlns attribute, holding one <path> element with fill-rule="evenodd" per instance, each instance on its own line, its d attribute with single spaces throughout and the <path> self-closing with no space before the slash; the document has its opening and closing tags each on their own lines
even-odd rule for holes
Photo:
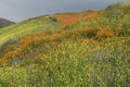
<svg viewBox="0 0 130 87">
<path fill-rule="evenodd" d="M 0 17 L 20 22 L 61 12 L 101 10 L 119 0 L 0 0 Z"/>
</svg>

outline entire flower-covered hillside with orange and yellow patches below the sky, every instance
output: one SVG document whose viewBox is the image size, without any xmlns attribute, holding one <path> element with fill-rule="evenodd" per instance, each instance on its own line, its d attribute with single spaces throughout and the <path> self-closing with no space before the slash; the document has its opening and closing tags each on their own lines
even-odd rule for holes
<svg viewBox="0 0 130 87">
<path fill-rule="evenodd" d="M 32 17 L 0 29 L 3 87 L 129 87 L 130 4 Z"/>
</svg>

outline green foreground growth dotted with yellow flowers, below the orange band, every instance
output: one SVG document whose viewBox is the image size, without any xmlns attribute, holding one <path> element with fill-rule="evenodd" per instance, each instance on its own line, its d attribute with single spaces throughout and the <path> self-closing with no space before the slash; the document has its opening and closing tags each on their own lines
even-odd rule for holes
<svg viewBox="0 0 130 87">
<path fill-rule="evenodd" d="M 9 86 L 27 87 L 129 87 L 130 48 L 121 38 L 99 44 L 90 39 L 62 41 L 58 47 L 44 45 L 47 53 L 34 61 L 38 49 L 30 46 L 28 62 L 0 69 Z M 126 45 L 123 45 L 126 44 Z M 98 49 L 99 48 L 99 49 Z M 129 49 L 123 49 L 129 48 Z M 95 50 L 94 50 L 95 49 Z M 52 51 L 54 50 L 54 51 Z M 32 53 L 31 53 L 32 52 Z M 31 55 L 32 54 L 32 55 Z M 23 55 L 24 58 L 26 55 Z"/>
</svg>

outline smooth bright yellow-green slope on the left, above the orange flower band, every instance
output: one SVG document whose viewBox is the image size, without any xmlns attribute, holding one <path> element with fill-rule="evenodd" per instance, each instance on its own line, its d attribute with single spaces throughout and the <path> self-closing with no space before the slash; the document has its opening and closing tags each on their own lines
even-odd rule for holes
<svg viewBox="0 0 130 87">
<path fill-rule="evenodd" d="M 37 32 L 56 30 L 60 24 L 51 21 L 46 16 L 30 18 L 15 25 L 0 29 L 0 45 L 10 39 L 18 39 L 20 37 Z"/>
</svg>

